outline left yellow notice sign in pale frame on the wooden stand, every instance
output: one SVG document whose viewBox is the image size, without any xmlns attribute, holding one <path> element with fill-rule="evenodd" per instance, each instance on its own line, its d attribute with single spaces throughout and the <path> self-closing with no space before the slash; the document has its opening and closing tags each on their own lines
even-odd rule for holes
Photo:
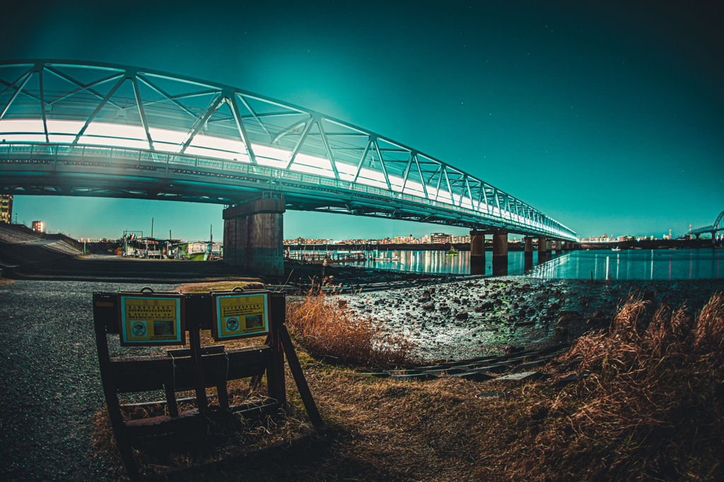
<svg viewBox="0 0 724 482">
<path fill-rule="evenodd" d="M 185 345 L 182 294 L 118 293 L 121 346 Z"/>
</svg>

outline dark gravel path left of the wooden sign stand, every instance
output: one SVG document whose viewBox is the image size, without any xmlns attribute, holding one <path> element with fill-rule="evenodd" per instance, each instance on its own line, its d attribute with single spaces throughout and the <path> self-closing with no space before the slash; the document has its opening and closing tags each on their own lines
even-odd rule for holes
<svg viewBox="0 0 724 482">
<path fill-rule="evenodd" d="M 91 416 L 104 405 L 90 300 L 93 291 L 140 288 L 0 285 L 0 480 L 108 480 L 90 450 Z"/>
</svg>

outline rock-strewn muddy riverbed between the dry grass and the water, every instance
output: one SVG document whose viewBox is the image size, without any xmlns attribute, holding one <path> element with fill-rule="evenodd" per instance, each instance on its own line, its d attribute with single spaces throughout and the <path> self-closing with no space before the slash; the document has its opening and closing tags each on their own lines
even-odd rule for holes
<svg viewBox="0 0 724 482">
<path fill-rule="evenodd" d="M 570 343 L 610 326 L 616 306 L 639 292 L 650 306 L 685 304 L 692 312 L 724 280 L 588 281 L 499 277 L 341 296 L 358 317 L 404 333 L 427 360 L 500 355 L 511 347 Z"/>
</svg>

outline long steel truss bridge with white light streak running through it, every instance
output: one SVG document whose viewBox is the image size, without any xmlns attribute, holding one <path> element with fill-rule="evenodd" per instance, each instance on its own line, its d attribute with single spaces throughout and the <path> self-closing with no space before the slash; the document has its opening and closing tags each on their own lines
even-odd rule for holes
<svg viewBox="0 0 724 482">
<path fill-rule="evenodd" d="M 344 212 L 575 241 L 470 173 L 316 111 L 193 77 L 87 61 L 0 62 L 0 193 Z"/>
</svg>

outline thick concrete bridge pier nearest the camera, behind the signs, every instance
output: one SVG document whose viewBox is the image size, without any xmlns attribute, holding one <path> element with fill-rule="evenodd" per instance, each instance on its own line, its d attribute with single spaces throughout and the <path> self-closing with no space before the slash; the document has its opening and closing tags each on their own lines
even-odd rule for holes
<svg viewBox="0 0 724 482">
<path fill-rule="evenodd" d="M 264 197 L 224 210 L 224 262 L 284 275 L 284 199 Z"/>
</svg>

